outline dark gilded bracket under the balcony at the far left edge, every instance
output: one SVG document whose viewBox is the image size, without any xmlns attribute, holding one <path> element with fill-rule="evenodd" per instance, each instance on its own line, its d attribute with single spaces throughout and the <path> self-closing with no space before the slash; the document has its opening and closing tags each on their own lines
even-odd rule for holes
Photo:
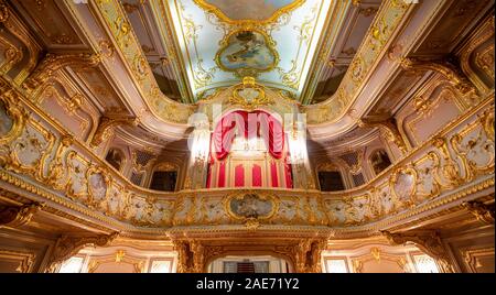
<svg viewBox="0 0 496 295">
<path fill-rule="evenodd" d="M 0 228 L 10 227 L 18 228 L 26 225 L 45 205 L 33 203 L 22 206 L 3 206 L 0 205 Z"/>
</svg>

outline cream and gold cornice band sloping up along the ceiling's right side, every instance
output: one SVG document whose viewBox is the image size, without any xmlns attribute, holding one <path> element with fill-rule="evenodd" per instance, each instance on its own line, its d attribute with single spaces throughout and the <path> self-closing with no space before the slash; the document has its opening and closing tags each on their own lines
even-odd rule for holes
<svg viewBox="0 0 496 295">
<path fill-rule="evenodd" d="M 384 18 L 381 13 L 385 13 L 385 9 L 387 10 L 387 3 L 389 6 L 391 4 L 390 2 L 382 2 L 376 19 L 370 26 L 371 29 L 378 26 L 380 28 L 378 22 L 380 22 L 380 19 Z M 425 34 L 427 30 L 429 30 L 429 26 L 435 21 L 436 15 L 442 13 L 443 9 L 448 9 L 444 3 L 445 1 L 425 1 L 422 2 L 420 8 L 412 4 L 407 11 L 403 12 L 403 18 L 397 26 L 395 26 L 395 31 L 391 32 L 390 36 L 385 41 L 387 45 L 381 47 L 380 54 L 377 56 L 375 62 L 369 65 L 367 74 L 359 79 L 359 83 L 355 83 L 356 86 L 353 88 L 353 92 L 346 92 L 345 98 L 347 99 L 346 101 L 349 101 L 349 103 L 338 103 L 339 100 L 343 100 L 342 96 L 344 92 L 339 89 L 348 85 L 345 76 L 338 90 L 333 97 L 326 101 L 303 108 L 310 118 L 308 120 L 308 128 L 313 140 L 330 140 L 345 134 L 357 125 L 357 118 L 360 118 L 370 106 L 377 102 L 380 89 L 386 87 L 391 75 L 396 75 L 396 73 L 400 70 L 399 63 L 390 61 L 386 57 L 390 46 L 392 46 L 392 44 L 401 44 L 402 56 L 408 56 L 408 54 L 418 44 L 418 41 Z M 370 36 L 371 31 L 367 34 Z M 364 48 L 365 46 L 366 41 L 362 43 L 354 59 L 359 58 L 360 51 L 366 51 L 366 48 Z M 352 66 L 348 69 L 349 73 L 353 72 L 354 63 L 357 62 L 352 63 Z M 346 75 L 351 74 L 347 73 Z M 374 94 L 371 94 L 371 91 Z M 331 108 L 330 103 L 334 103 L 334 108 L 343 110 L 339 116 L 333 119 L 326 119 L 324 116 L 324 110 Z M 353 116 L 351 116 L 351 110 L 353 110 Z"/>
</svg>

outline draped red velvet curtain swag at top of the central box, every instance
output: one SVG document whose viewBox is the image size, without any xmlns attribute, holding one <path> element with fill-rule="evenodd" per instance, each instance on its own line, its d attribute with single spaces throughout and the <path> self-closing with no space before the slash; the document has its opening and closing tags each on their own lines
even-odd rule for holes
<svg viewBox="0 0 496 295">
<path fill-rule="evenodd" d="M 282 157 L 284 131 L 282 124 L 265 111 L 234 111 L 223 117 L 213 134 L 213 144 L 217 160 L 224 160 L 230 151 L 236 135 L 245 139 L 260 136 L 274 159 Z"/>
</svg>

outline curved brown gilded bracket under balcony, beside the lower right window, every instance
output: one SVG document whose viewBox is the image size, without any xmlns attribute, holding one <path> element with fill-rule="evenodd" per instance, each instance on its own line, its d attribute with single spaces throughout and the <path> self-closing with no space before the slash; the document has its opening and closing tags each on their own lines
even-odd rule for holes
<svg viewBox="0 0 496 295">
<path fill-rule="evenodd" d="M 403 245 L 408 242 L 414 243 L 424 253 L 438 260 L 438 263 L 443 272 L 454 272 L 451 259 L 449 258 L 438 232 L 408 231 L 401 233 L 391 233 L 389 231 L 381 231 L 381 233 L 384 237 L 386 237 L 391 245 Z"/>
</svg>

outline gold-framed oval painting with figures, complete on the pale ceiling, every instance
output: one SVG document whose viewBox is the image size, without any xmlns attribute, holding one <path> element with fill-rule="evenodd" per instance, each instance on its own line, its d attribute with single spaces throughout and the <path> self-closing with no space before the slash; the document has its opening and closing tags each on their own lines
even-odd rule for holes
<svg viewBox="0 0 496 295">
<path fill-rule="evenodd" d="M 236 72 L 239 76 L 256 76 L 259 72 L 273 69 L 279 63 L 276 42 L 261 30 L 234 31 L 220 46 L 215 62 L 223 70 Z"/>
</svg>

